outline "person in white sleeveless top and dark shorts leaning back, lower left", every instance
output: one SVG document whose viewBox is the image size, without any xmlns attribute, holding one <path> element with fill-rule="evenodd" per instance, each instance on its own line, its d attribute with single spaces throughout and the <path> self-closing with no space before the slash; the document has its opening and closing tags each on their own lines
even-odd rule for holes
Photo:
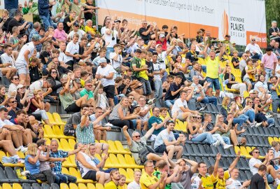
<svg viewBox="0 0 280 189">
<path fill-rule="evenodd" d="M 83 144 L 76 144 L 75 149 L 82 147 Z M 80 170 L 80 174 L 83 179 L 90 179 L 92 181 L 98 181 L 102 185 L 111 181 L 110 175 L 104 172 L 100 172 L 92 161 L 90 156 L 85 154 L 85 148 L 76 154 L 76 165 Z"/>
</svg>

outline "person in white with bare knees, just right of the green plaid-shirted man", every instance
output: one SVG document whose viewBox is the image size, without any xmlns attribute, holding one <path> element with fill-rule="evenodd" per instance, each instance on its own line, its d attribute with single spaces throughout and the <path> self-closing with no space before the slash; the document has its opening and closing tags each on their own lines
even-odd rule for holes
<svg viewBox="0 0 280 189">
<path fill-rule="evenodd" d="M 98 106 L 94 109 L 94 112 L 95 112 L 94 114 L 90 115 L 91 121 L 96 120 L 97 118 L 99 118 L 100 116 L 102 116 L 104 114 L 104 110 Z M 99 121 L 98 124 L 102 125 L 102 121 Z M 97 141 L 100 141 L 100 140 L 106 141 L 107 140 L 107 131 L 110 131 L 110 130 L 111 130 L 111 127 L 98 127 L 97 129 L 93 130 L 94 138 Z"/>
</svg>

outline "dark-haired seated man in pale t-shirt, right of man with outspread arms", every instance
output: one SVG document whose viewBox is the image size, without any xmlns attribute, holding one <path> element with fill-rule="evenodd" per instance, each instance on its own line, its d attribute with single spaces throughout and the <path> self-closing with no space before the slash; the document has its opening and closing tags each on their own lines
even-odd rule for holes
<svg viewBox="0 0 280 189">
<path fill-rule="evenodd" d="M 154 149 L 156 153 L 168 153 L 168 158 L 172 159 L 173 155 L 176 154 L 176 159 L 180 159 L 183 153 L 183 146 L 186 141 L 186 137 L 179 137 L 177 140 L 174 137 L 173 130 L 175 124 L 173 120 L 167 121 L 167 128 L 162 130 L 155 138 Z"/>
</svg>

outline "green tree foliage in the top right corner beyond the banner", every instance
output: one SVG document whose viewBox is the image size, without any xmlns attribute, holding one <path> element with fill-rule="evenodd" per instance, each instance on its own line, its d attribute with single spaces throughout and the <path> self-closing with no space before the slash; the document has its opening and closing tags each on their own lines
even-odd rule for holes
<svg viewBox="0 0 280 189">
<path fill-rule="evenodd" d="M 278 23 L 278 27 L 280 25 L 280 0 L 265 0 L 265 17 L 267 20 L 267 39 L 268 29 L 271 27 L 272 20 L 276 20 Z"/>
</svg>

